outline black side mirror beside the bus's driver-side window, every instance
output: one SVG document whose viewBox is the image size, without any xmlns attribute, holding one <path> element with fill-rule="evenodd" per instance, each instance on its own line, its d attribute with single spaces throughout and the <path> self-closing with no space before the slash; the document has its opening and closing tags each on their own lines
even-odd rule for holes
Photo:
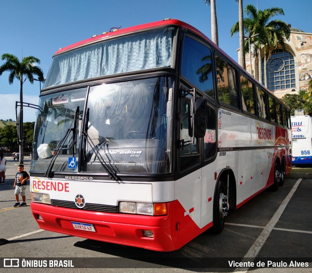
<svg viewBox="0 0 312 273">
<path fill-rule="evenodd" d="M 207 103 L 204 98 L 196 98 L 195 110 L 193 109 L 194 98 L 192 98 L 191 120 L 189 127 L 189 136 L 195 139 L 196 137 L 204 137 L 207 124 Z"/>
</svg>

